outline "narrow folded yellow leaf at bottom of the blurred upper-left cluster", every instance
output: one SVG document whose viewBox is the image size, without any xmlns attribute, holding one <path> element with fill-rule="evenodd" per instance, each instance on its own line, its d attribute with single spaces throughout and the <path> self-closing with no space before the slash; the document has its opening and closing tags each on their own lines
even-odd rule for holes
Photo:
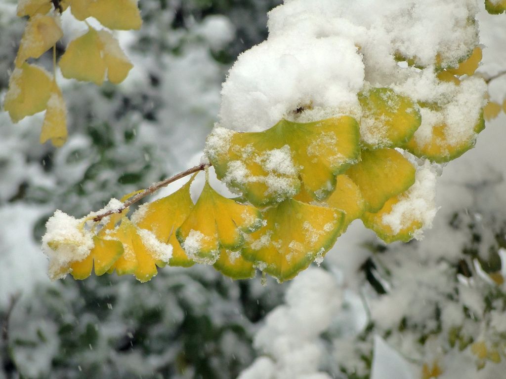
<svg viewBox="0 0 506 379">
<path fill-rule="evenodd" d="M 62 93 L 56 82 L 53 82 L 53 92 L 47 103 L 46 116 L 40 132 L 40 143 L 48 139 L 59 148 L 67 140 L 67 110 Z"/>
</svg>

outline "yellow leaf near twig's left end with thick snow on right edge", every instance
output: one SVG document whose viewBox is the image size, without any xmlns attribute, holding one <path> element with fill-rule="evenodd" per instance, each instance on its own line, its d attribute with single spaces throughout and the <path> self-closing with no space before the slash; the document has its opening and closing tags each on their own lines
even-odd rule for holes
<svg viewBox="0 0 506 379">
<path fill-rule="evenodd" d="M 155 276 L 156 266 L 164 266 L 172 256 L 171 245 L 159 242 L 153 233 L 138 228 L 126 217 L 107 238 L 121 242 L 124 250 L 108 272 L 115 269 L 118 275 L 133 273 L 142 282 Z"/>
</svg>

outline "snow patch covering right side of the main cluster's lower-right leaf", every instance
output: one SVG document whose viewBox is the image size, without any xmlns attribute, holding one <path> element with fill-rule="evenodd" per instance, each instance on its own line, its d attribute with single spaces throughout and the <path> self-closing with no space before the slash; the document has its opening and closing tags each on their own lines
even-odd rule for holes
<svg viewBox="0 0 506 379">
<path fill-rule="evenodd" d="M 412 222 L 420 222 L 421 228 L 414 232 L 414 238 L 420 240 L 423 237 L 422 229 L 431 228 L 436 216 L 438 207 L 435 196 L 436 173 L 429 161 L 426 161 L 424 166 L 418 167 L 414 184 L 394 204 L 392 210 L 383 216 L 382 221 L 396 234 Z"/>
</svg>

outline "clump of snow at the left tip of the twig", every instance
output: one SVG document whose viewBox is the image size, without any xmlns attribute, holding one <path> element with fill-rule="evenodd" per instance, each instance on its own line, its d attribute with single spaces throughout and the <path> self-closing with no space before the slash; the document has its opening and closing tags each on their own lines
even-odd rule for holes
<svg viewBox="0 0 506 379">
<path fill-rule="evenodd" d="M 71 262 L 85 259 L 93 249 L 93 234 L 83 228 L 84 220 L 57 210 L 46 223 L 42 250 L 49 258 L 49 276 L 65 277 Z"/>
</svg>

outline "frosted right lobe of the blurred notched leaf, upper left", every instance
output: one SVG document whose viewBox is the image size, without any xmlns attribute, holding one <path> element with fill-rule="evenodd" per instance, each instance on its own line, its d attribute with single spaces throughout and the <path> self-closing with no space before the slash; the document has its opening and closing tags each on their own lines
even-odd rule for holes
<svg viewBox="0 0 506 379">
<path fill-rule="evenodd" d="M 111 33 L 107 30 L 100 30 L 98 34 L 102 41 L 107 78 L 111 83 L 121 83 L 134 65 L 130 63 L 128 57 L 121 50 L 118 40 Z"/>
</svg>

